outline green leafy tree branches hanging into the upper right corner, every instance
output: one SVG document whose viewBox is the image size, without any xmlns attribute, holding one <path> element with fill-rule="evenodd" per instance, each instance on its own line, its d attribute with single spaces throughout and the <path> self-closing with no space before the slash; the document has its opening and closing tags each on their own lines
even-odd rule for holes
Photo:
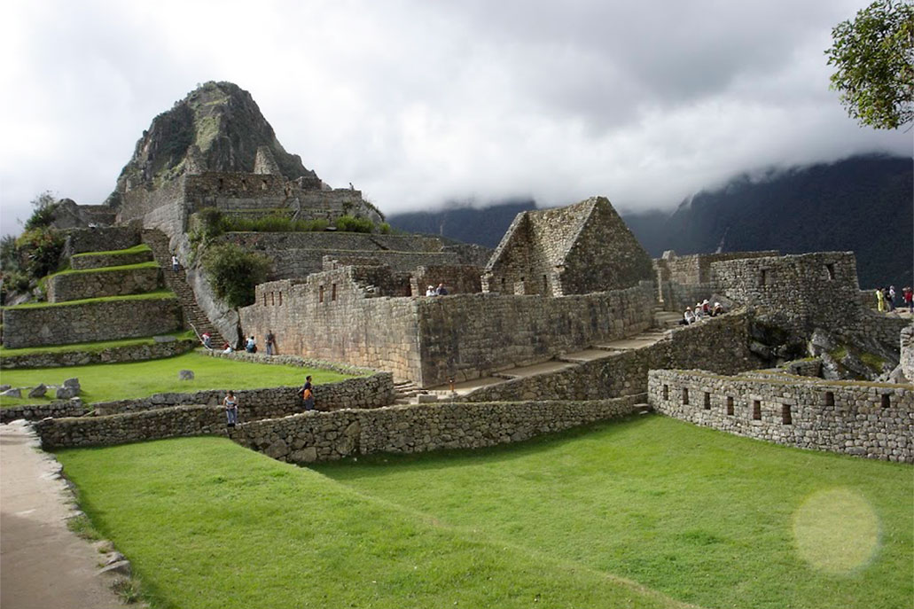
<svg viewBox="0 0 914 609">
<path fill-rule="evenodd" d="M 876 0 L 832 29 L 832 89 L 848 114 L 876 129 L 914 121 L 914 3 Z"/>
</svg>

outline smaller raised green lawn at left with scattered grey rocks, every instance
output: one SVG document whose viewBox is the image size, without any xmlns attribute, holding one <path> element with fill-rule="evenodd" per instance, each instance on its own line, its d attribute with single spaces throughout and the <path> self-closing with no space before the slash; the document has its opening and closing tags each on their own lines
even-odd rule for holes
<svg viewBox="0 0 914 609">
<path fill-rule="evenodd" d="M 178 380 L 178 370 L 194 372 L 193 380 Z M 85 402 L 143 398 L 166 391 L 207 389 L 257 389 L 301 385 L 305 375 L 314 382 L 328 383 L 348 379 L 351 375 L 330 370 L 296 368 L 272 364 L 255 364 L 226 358 L 210 358 L 197 352 L 175 358 L 153 359 L 124 364 L 96 364 L 69 368 L 0 370 L 0 382 L 13 387 L 62 384 L 64 379 L 80 379 L 80 397 Z M 50 402 L 35 398 L 0 398 L 0 407 Z"/>
</svg>

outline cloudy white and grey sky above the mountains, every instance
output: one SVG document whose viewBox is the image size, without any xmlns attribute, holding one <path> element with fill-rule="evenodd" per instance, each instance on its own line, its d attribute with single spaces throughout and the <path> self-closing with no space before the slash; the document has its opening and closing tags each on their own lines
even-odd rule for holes
<svg viewBox="0 0 914 609">
<path fill-rule="evenodd" d="M 0 230 L 95 204 L 197 83 L 251 92 L 289 152 L 389 213 L 447 200 L 669 208 L 742 171 L 885 151 L 849 119 L 831 28 L 866 0 L 5 3 Z M 255 8 L 256 6 L 256 8 Z"/>
</svg>

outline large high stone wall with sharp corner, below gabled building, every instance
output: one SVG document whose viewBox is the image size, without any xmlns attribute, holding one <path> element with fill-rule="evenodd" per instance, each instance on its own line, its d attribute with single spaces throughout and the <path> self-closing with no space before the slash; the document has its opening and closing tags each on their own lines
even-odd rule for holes
<svg viewBox="0 0 914 609">
<path fill-rule="evenodd" d="M 245 334 L 273 330 L 282 353 L 390 370 L 431 387 L 632 336 L 653 318 L 647 287 L 562 298 L 388 298 L 353 273 L 260 284 L 256 304 L 240 310 Z"/>
</svg>

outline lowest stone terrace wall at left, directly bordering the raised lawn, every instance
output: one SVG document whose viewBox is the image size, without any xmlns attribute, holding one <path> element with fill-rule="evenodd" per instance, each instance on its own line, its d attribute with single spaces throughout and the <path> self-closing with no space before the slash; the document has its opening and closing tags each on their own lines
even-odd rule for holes
<svg viewBox="0 0 914 609">
<path fill-rule="evenodd" d="M 5 354 L 0 358 L 0 369 L 61 368 L 171 358 L 190 351 L 197 347 L 197 344 L 197 340 L 171 339 L 165 342 L 154 341 L 143 345 L 109 347 L 98 351 L 37 352 L 27 355 Z"/>
</svg>

